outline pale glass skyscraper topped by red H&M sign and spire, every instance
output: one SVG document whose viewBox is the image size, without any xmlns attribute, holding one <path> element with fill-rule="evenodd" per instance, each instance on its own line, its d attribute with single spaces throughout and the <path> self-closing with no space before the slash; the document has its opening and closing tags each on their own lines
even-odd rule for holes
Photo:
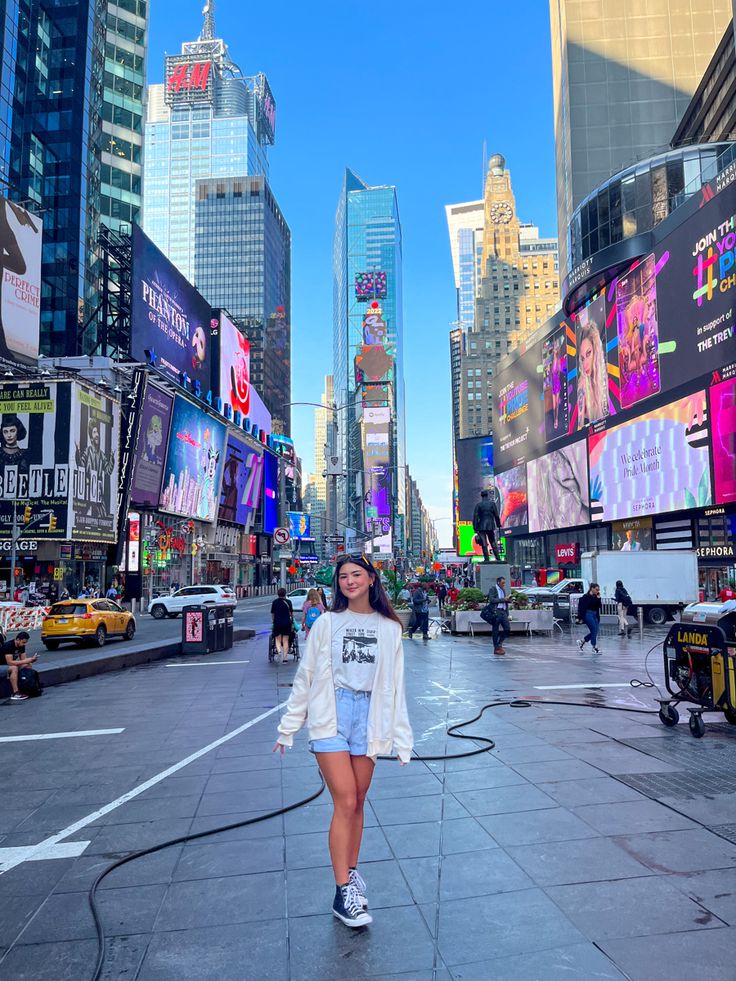
<svg viewBox="0 0 736 981">
<path fill-rule="evenodd" d="M 210 4 L 197 41 L 167 57 L 163 85 L 148 87 L 143 228 L 187 279 L 194 268 L 196 182 L 268 177 L 275 105 L 265 75 L 244 76 L 214 37 Z M 207 297 L 211 301 L 211 297 Z"/>
</svg>

